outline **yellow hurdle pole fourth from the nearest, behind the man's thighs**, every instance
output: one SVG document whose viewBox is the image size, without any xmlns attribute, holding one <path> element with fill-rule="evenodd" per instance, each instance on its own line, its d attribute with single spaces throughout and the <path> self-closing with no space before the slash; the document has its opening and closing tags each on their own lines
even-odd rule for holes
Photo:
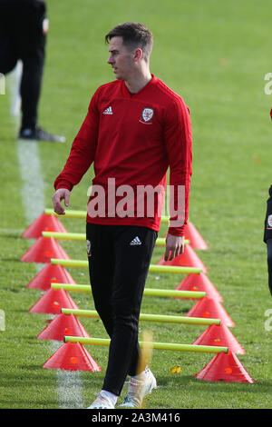
<svg viewBox="0 0 272 427">
<path fill-rule="evenodd" d="M 88 268 L 88 261 L 83 260 L 63 260 L 59 258 L 51 258 L 53 265 L 62 265 L 63 267 L 80 267 Z M 157 265 L 151 264 L 149 271 L 151 273 L 177 273 L 177 274 L 189 274 L 189 273 L 201 273 L 202 269 L 197 267 L 180 267 L 176 265 Z"/>
</svg>

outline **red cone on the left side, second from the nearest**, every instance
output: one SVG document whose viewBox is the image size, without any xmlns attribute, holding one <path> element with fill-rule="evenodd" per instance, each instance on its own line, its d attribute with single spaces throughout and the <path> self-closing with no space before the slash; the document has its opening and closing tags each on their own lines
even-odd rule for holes
<svg viewBox="0 0 272 427">
<path fill-rule="evenodd" d="M 63 341 L 64 335 L 90 338 L 82 323 L 73 314 L 61 313 L 38 334 L 37 339 Z"/>
</svg>

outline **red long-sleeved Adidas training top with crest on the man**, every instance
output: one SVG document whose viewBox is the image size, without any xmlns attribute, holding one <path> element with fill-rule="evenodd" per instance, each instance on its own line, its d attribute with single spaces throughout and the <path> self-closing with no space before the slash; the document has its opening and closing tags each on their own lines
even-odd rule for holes
<svg viewBox="0 0 272 427">
<path fill-rule="evenodd" d="M 121 80 L 103 84 L 97 89 L 83 125 L 73 141 L 63 172 L 55 179 L 54 188 L 71 191 L 92 162 L 95 174 L 92 189 L 98 185 L 104 190 L 105 209 L 97 209 L 100 214 L 90 214 L 88 209 L 87 222 L 138 225 L 159 231 L 161 198 L 164 199 L 165 194 L 156 197 L 155 193 L 152 196 L 154 209 L 151 212 L 147 208 L 148 195 L 142 196 L 138 189 L 147 186 L 165 189 L 170 167 L 170 186 L 174 188 L 171 195 L 174 201 L 172 212 L 177 213 L 180 206 L 178 188 L 182 185 L 185 190 L 183 219 L 184 224 L 187 223 L 192 162 L 189 108 L 180 95 L 171 91 L 155 75 L 152 74 L 151 81 L 137 94 L 131 94 Z M 111 198 L 111 203 L 113 200 L 115 204 L 114 213 L 109 208 L 109 192 L 113 188 L 109 186 L 109 179 L 115 191 L 119 188 L 114 198 Z M 130 185 L 132 189 L 132 206 L 125 185 Z M 143 211 L 140 209 L 139 214 L 136 208 L 138 204 L 142 207 L 141 197 L 144 199 L 144 208 Z M 98 205 L 100 200 L 98 194 L 92 192 L 88 206 L 92 202 Z M 120 204 L 121 211 L 130 214 L 116 214 Z M 172 219 L 177 218 L 176 214 L 170 216 Z M 177 225 L 177 222 L 170 221 L 169 233 L 184 235 L 184 224 Z"/>
</svg>

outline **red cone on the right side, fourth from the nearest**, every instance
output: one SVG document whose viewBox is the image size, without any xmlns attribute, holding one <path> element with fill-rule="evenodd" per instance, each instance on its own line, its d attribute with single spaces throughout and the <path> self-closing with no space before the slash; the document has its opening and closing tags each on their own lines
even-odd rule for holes
<svg viewBox="0 0 272 427">
<path fill-rule="evenodd" d="M 209 278 L 204 273 L 188 274 L 175 289 L 178 291 L 206 292 L 206 296 L 209 298 L 213 298 L 220 303 L 224 301 L 216 287 L 209 281 Z M 194 300 L 196 298 L 190 299 Z"/>
</svg>

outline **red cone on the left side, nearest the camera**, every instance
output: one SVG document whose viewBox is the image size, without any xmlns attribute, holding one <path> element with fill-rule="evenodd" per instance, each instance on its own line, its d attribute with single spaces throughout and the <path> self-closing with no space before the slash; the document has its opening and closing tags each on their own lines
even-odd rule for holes
<svg viewBox="0 0 272 427">
<path fill-rule="evenodd" d="M 64 371 L 100 372 L 100 366 L 81 343 L 63 343 L 63 345 L 44 363 L 45 369 L 63 369 Z"/>
</svg>

